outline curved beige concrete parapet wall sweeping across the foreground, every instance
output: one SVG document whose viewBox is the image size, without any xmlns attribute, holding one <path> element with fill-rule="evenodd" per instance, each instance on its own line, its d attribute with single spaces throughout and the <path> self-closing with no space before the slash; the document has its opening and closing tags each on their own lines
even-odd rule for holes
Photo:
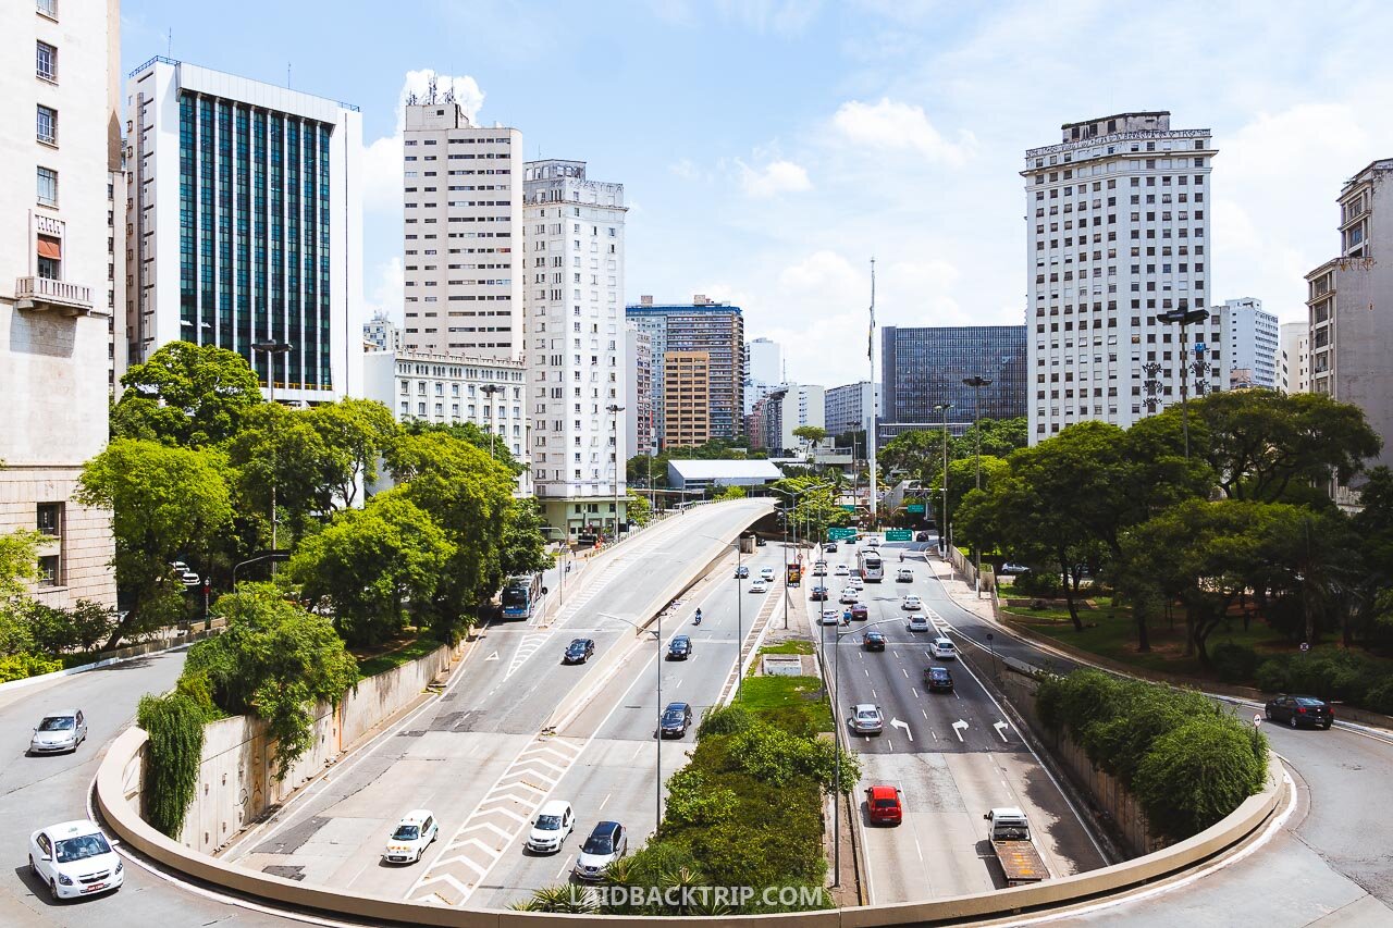
<svg viewBox="0 0 1393 928">
<path fill-rule="evenodd" d="M 107 750 L 98 769 L 96 801 L 107 828 L 132 849 L 157 864 L 209 883 L 224 886 L 240 895 L 283 903 L 297 910 L 320 910 L 376 921 L 442 925 L 456 928 L 514 928 L 542 922 L 566 925 L 652 925 L 657 918 L 625 915 L 557 915 L 507 910 L 458 910 L 410 903 L 401 899 L 365 896 L 316 888 L 280 876 L 226 864 L 213 857 L 189 851 L 150 828 L 139 817 L 139 758 L 146 734 L 142 729 L 127 729 Z M 1280 804 L 1283 768 L 1276 755 L 1269 755 L 1270 773 L 1266 789 L 1245 800 L 1231 815 L 1194 837 L 1173 844 L 1163 851 L 1137 860 L 1105 867 L 1087 874 L 1052 879 L 1034 886 L 1017 886 L 992 893 L 954 896 L 931 902 L 866 906 L 861 908 L 826 910 L 816 913 L 788 913 L 777 915 L 745 915 L 738 918 L 673 918 L 692 921 L 777 922 L 790 928 L 875 928 L 910 922 L 935 922 L 964 918 L 1010 915 L 1024 908 L 1063 906 L 1092 896 L 1116 893 L 1142 882 L 1184 869 L 1233 846 L 1250 836 Z"/>
</svg>

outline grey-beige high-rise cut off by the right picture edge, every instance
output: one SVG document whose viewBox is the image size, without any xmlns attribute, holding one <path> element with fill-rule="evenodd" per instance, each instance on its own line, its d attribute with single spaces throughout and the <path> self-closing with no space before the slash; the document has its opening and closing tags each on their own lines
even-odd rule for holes
<svg viewBox="0 0 1393 928">
<path fill-rule="evenodd" d="M 1307 274 L 1311 392 L 1364 410 L 1393 465 L 1393 159 L 1340 190 L 1340 255 Z M 1353 502 L 1339 488 L 1337 502 Z"/>
</svg>

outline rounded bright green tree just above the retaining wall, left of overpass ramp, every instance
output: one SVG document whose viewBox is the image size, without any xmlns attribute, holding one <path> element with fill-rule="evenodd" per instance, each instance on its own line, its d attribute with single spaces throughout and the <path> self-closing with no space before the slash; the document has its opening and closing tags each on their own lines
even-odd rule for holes
<svg viewBox="0 0 1393 928">
<path fill-rule="evenodd" d="M 426 603 L 454 545 L 397 490 L 364 509 L 338 510 L 286 566 L 315 612 L 332 614 L 352 645 L 380 644 L 407 624 L 407 603 Z"/>
</svg>

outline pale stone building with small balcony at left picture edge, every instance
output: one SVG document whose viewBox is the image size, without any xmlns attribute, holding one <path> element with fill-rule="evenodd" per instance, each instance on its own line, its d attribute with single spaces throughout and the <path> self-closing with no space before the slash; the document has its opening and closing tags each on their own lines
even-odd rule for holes
<svg viewBox="0 0 1393 928">
<path fill-rule="evenodd" d="M 116 0 L 0 4 L 0 535 L 45 535 L 31 589 L 54 608 L 116 605 L 110 513 L 72 495 L 107 442 L 118 31 Z"/>
</svg>

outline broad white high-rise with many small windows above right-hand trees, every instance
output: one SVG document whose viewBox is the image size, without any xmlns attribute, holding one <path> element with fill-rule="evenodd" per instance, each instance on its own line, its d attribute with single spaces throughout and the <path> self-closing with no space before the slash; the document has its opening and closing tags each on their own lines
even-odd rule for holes
<svg viewBox="0 0 1393 928">
<path fill-rule="evenodd" d="M 1059 145 L 1025 152 L 1032 443 L 1177 403 L 1184 365 L 1191 394 L 1222 387 L 1220 320 L 1183 344 L 1160 319 L 1209 305 L 1216 153 L 1209 130 L 1172 130 L 1165 111 L 1067 123 Z"/>
</svg>

